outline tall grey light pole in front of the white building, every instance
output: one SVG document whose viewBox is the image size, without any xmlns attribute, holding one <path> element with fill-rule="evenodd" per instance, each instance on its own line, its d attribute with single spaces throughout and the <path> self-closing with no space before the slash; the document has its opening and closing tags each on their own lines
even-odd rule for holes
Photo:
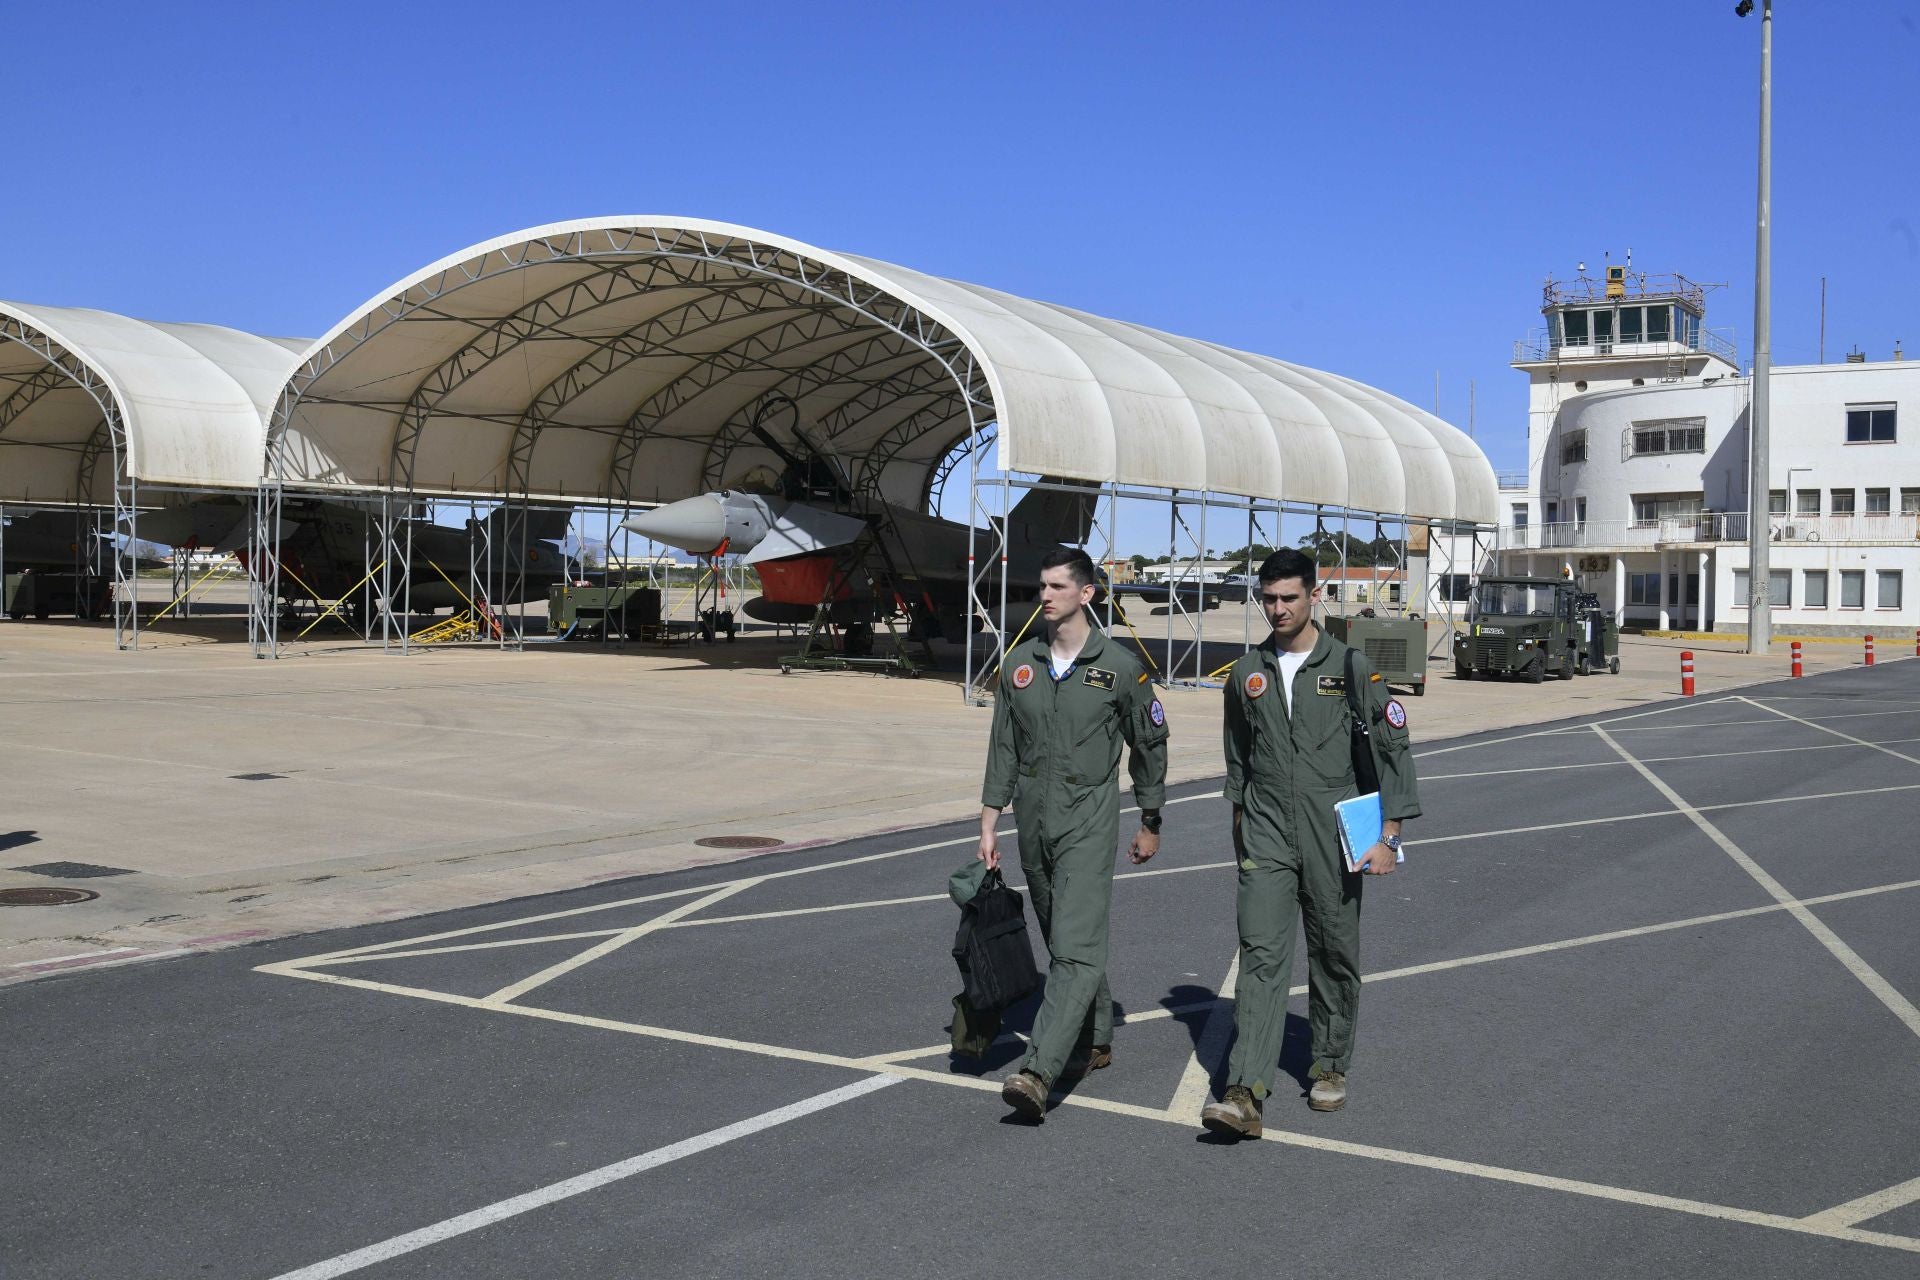
<svg viewBox="0 0 1920 1280">
<path fill-rule="evenodd" d="M 1740 0 L 1745 17 L 1753 0 Z M 1761 0 L 1761 196 L 1753 246 L 1753 405 L 1747 415 L 1747 652 L 1774 637 L 1768 453 L 1774 367 L 1774 0 Z"/>
</svg>

